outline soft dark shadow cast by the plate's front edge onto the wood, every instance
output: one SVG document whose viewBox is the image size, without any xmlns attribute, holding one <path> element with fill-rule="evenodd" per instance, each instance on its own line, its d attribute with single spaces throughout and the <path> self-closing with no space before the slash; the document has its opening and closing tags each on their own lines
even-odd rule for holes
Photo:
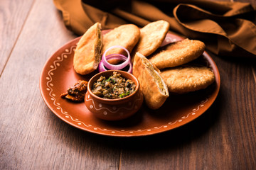
<svg viewBox="0 0 256 170">
<path fill-rule="evenodd" d="M 220 118 L 219 108 L 223 108 L 222 88 L 213 105 L 201 116 L 192 122 L 183 125 L 174 130 L 169 130 L 156 135 L 148 135 L 142 137 L 109 137 L 104 135 L 96 135 L 91 132 L 85 132 L 74 128 L 66 123 L 63 123 L 58 118 L 51 118 L 54 121 L 60 121 L 60 135 L 65 136 L 67 146 L 79 149 L 88 147 L 88 143 L 93 144 L 91 147 L 98 150 L 107 149 L 112 152 L 134 152 L 139 154 L 151 154 L 162 152 L 163 150 L 176 150 L 182 147 L 189 147 L 191 143 L 201 140 L 203 137 L 208 137 L 208 132 L 214 128 Z M 225 90 L 225 89 L 223 89 Z M 54 115 L 53 115 L 54 116 Z M 56 125 L 58 123 L 53 123 Z M 58 137 L 56 140 L 59 140 Z M 199 142 L 198 142 L 199 143 Z M 75 146 L 76 145 L 76 146 Z"/>
</svg>

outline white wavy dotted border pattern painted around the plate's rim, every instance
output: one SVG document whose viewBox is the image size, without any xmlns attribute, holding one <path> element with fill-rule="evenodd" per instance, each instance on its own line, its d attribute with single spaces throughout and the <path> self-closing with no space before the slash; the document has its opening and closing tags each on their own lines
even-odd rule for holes
<svg viewBox="0 0 256 170">
<path fill-rule="evenodd" d="M 60 62 L 63 62 L 64 59 L 68 58 L 68 55 L 70 55 L 73 51 L 75 51 L 75 46 L 72 46 L 70 47 L 70 49 L 65 49 L 65 52 L 63 52 L 60 57 L 56 57 L 56 60 L 53 61 L 53 64 L 50 65 L 50 70 L 48 72 L 48 77 L 46 77 L 46 79 L 48 80 L 46 82 L 46 86 L 48 86 L 48 88 L 46 88 L 47 91 L 49 91 L 49 96 L 51 97 L 50 100 L 53 101 L 53 105 L 56 106 L 56 109 L 58 111 L 60 111 L 61 113 L 63 113 L 65 115 L 65 118 L 70 118 L 71 120 L 73 120 L 73 122 L 75 122 L 76 125 L 78 126 L 81 126 L 84 125 L 85 127 L 87 128 L 92 128 L 92 130 L 95 130 L 95 131 L 108 131 L 108 132 L 111 132 L 112 134 L 116 133 L 116 132 L 129 132 L 131 134 L 134 134 L 134 133 L 138 133 L 138 132 L 144 132 L 144 131 L 147 131 L 147 132 L 151 132 L 153 130 L 158 130 L 158 129 L 161 129 L 161 128 L 168 128 L 170 125 L 174 125 L 176 123 L 181 123 L 184 119 L 188 118 L 188 116 L 193 116 L 193 115 L 196 115 L 196 112 L 202 108 L 204 106 L 204 103 L 206 103 L 208 101 L 208 99 L 206 98 L 205 100 L 201 101 L 201 103 L 198 105 L 197 108 L 193 108 L 192 111 L 190 113 L 188 113 L 186 116 L 183 116 L 181 117 L 180 119 L 174 121 L 174 122 L 170 122 L 170 123 L 167 123 L 166 125 L 161 125 L 159 127 L 152 127 L 152 128 L 148 128 L 148 129 L 144 129 L 144 130 L 141 130 L 141 129 L 138 129 L 138 130 L 108 130 L 106 128 L 97 128 L 93 125 L 90 125 L 90 124 L 86 124 L 86 123 L 83 123 L 82 121 L 78 120 L 77 118 L 73 118 L 71 115 L 69 115 L 68 112 L 66 111 L 63 111 L 63 108 L 61 108 L 60 106 L 60 103 L 56 103 L 56 99 L 55 99 L 55 94 L 53 94 L 53 89 L 51 88 L 52 86 L 54 86 L 54 84 L 51 83 L 51 81 L 53 80 L 52 79 L 52 76 L 54 75 L 53 74 L 53 71 L 55 69 L 58 69 L 58 67 L 60 66 Z"/>
</svg>

